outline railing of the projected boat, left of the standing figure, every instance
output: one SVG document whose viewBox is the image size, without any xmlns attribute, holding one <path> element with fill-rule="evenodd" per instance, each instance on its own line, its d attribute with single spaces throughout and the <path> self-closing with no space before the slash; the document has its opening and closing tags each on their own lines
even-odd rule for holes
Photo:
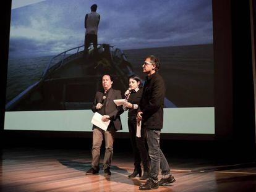
<svg viewBox="0 0 256 192">
<path fill-rule="evenodd" d="M 64 61 L 68 57 L 74 57 L 73 59 L 76 59 L 77 57 L 79 57 L 79 50 L 83 47 L 84 47 L 84 45 L 77 46 L 75 48 L 68 49 L 67 51 L 61 52 L 60 54 L 52 57 L 47 65 L 45 71 L 43 72 L 43 75 L 41 78 L 42 79 L 46 78 L 46 76 L 48 75 L 48 73 L 50 72 L 51 69 L 56 69 L 56 67 L 61 67 L 62 65 L 64 65 Z M 70 52 L 72 52 L 72 53 L 70 53 Z M 54 62 L 54 60 L 58 59 L 58 58 L 59 58 L 59 61 Z"/>
</svg>

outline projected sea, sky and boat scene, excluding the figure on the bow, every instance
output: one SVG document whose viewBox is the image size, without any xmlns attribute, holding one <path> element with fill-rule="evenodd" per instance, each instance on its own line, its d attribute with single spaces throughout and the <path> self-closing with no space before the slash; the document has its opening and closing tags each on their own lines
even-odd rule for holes
<svg viewBox="0 0 256 192">
<path fill-rule="evenodd" d="M 98 46 L 85 54 L 85 14 L 97 4 Z M 122 93 L 160 58 L 164 107 L 213 107 L 210 0 L 13 1 L 6 111 L 90 109 L 101 77 Z"/>
</svg>

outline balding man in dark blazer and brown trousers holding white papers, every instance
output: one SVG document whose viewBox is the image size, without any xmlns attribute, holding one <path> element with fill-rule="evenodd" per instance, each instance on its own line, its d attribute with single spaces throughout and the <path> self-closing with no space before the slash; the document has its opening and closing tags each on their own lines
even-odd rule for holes
<svg viewBox="0 0 256 192">
<path fill-rule="evenodd" d="M 105 138 L 105 157 L 103 160 L 103 169 L 106 175 L 111 175 L 110 165 L 113 156 L 114 133 L 122 130 L 120 114 L 123 112 L 122 106 L 117 107 L 114 99 L 122 99 L 121 91 L 112 88 L 113 80 L 110 75 L 103 75 L 103 91 L 96 92 L 92 105 L 92 111 L 103 115 L 103 122 L 111 120 L 106 131 L 93 125 L 93 145 L 92 145 L 92 168 L 87 171 L 88 174 L 96 174 L 100 167 L 100 148 L 103 138 Z"/>
</svg>

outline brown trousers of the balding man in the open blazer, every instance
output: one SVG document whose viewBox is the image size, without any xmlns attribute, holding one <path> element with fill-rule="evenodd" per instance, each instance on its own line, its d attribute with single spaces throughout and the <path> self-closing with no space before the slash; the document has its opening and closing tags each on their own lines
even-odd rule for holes
<svg viewBox="0 0 256 192">
<path fill-rule="evenodd" d="M 100 148 L 105 138 L 105 156 L 103 160 L 103 169 L 110 167 L 113 156 L 114 130 L 104 131 L 101 128 L 93 128 L 93 146 L 92 146 L 92 167 L 99 169 L 100 164 Z"/>
</svg>

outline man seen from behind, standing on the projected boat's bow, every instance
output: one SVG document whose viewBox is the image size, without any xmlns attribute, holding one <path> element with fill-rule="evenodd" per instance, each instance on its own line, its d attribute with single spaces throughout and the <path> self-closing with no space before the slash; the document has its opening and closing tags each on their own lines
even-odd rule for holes
<svg viewBox="0 0 256 192">
<path fill-rule="evenodd" d="M 88 48 L 90 44 L 93 44 L 93 48 L 97 53 L 98 45 L 98 25 L 100 23 L 100 14 L 96 12 L 97 5 L 91 6 L 91 12 L 85 15 L 85 56 L 88 54 Z"/>
</svg>

